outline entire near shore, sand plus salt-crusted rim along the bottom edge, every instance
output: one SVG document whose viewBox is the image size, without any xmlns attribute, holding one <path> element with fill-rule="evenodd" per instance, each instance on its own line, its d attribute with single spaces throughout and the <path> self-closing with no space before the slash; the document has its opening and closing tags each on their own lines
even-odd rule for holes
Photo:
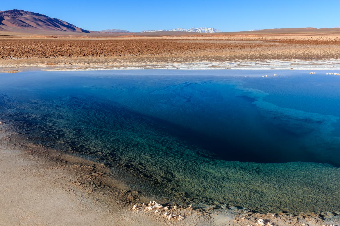
<svg viewBox="0 0 340 226">
<path fill-rule="evenodd" d="M 60 215 L 62 215 L 62 220 L 67 221 L 67 224 L 72 222 L 74 225 L 84 223 L 101 225 L 100 222 L 102 222 L 105 225 L 165 225 L 169 223 L 171 225 L 226 225 L 229 223 L 241 226 L 261 225 L 258 223 L 259 219 L 265 223 L 273 223 L 267 225 L 340 224 L 340 213 L 261 214 L 226 205 L 203 205 L 192 210 L 171 203 L 171 200 L 158 199 L 163 206 L 169 206 L 167 212 L 180 212 L 184 216 L 184 220 L 180 222 L 168 220 L 154 211 L 144 209 L 141 206 L 142 203 L 157 201 L 157 199 L 145 193 L 141 194 L 138 190 L 131 190 L 129 183 L 117 177 L 120 172 L 112 173 L 115 167 L 96 160 L 85 159 L 83 156 L 34 144 L 15 129 L 17 122 L 7 122 L 4 119 L 0 121 L 2 121 L 0 124 L 0 161 L 6 163 L 1 165 L 0 170 L 1 179 L 5 181 L 2 186 L 6 188 L 3 189 L 5 196 L 0 198 L 1 203 L 4 204 L 0 211 L 3 215 L 0 217 L 6 219 L 7 225 L 21 225 L 22 221 L 19 222 L 19 220 L 26 220 L 28 215 L 32 224 L 36 224 L 37 221 L 47 224 L 56 222 L 56 218 L 60 218 Z M 28 187 L 30 189 L 27 189 Z M 133 205 L 142 208 L 134 210 Z M 176 209 L 174 205 L 179 207 Z M 45 211 L 45 208 L 49 211 Z M 19 217 L 16 213 L 18 210 L 20 210 Z M 11 214 L 15 214 L 13 219 L 8 218 Z M 320 214 L 324 214 L 325 218 L 321 219 Z M 86 217 L 87 215 L 91 218 Z M 60 225 L 63 224 L 60 223 Z"/>
</svg>

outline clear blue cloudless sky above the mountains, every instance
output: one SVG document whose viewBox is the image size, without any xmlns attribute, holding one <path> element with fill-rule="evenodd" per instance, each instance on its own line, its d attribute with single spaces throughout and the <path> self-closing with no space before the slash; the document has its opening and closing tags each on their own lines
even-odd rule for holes
<svg viewBox="0 0 340 226">
<path fill-rule="evenodd" d="M 213 27 L 223 32 L 253 28 L 340 27 L 340 0 L 13 0 L 0 10 L 23 9 L 87 30 Z"/>
</svg>

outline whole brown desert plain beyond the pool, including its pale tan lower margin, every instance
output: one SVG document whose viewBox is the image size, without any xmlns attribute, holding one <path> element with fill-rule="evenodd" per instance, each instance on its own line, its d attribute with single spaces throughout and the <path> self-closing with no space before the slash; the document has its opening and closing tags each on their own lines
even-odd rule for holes
<svg viewBox="0 0 340 226">
<path fill-rule="evenodd" d="M 340 35 L 0 39 L 0 67 L 339 59 Z"/>
</svg>

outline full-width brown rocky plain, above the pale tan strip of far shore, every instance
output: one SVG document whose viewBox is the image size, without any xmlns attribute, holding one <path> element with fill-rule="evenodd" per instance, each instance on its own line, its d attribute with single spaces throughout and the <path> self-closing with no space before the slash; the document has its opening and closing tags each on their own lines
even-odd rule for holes
<svg viewBox="0 0 340 226">
<path fill-rule="evenodd" d="M 0 59 L 78 57 L 204 57 L 228 59 L 338 58 L 338 36 L 133 39 L 4 39 Z"/>
</svg>

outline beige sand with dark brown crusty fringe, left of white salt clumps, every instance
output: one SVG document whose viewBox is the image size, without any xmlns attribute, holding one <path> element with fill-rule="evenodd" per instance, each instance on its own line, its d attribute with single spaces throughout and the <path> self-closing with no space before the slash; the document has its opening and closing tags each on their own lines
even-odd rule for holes
<svg viewBox="0 0 340 226">
<path fill-rule="evenodd" d="M 101 183 L 96 177 L 106 175 L 107 167 L 62 153 L 46 153 L 29 143 L 13 145 L 10 134 L 18 136 L 8 124 L 2 124 L 0 225 L 163 224 L 131 212 L 124 201 L 129 192 L 118 181 L 110 181 L 117 187 L 117 195 L 104 188 L 94 191 L 91 184 Z"/>
</svg>

